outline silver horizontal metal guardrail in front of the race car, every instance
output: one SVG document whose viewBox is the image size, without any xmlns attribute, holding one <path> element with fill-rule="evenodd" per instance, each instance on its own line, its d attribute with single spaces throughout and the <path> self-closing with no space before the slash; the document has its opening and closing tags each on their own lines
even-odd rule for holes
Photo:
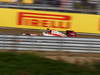
<svg viewBox="0 0 100 75">
<path fill-rule="evenodd" d="M 100 39 L 0 35 L 0 50 L 100 53 Z"/>
</svg>

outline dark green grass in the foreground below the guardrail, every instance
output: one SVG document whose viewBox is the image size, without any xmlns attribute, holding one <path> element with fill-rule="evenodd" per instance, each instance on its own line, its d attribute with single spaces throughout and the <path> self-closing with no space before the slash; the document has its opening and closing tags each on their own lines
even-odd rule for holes
<svg viewBox="0 0 100 75">
<path fill-rule="evenodd" d="M 94 66 L 91 70 L 33 54 L 0 53 L 0 75 L 100 75 L 100 65 Z"/>
</svg>

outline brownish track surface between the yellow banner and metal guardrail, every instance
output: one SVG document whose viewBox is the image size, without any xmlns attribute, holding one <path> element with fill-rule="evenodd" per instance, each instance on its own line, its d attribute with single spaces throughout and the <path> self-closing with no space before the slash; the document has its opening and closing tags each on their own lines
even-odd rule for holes
<svg viewBox="0 0 100 75">
<path fill-rule="evenodd" d="M 23 33 L 33 33 L 41 34 L 44 30 L 35 30 L 35 29 L 20 29 L 20 28 L 0 28 L 1 35 L 22 35 Z M 100 38 L 100 35 L 86 35 L 78 34 L 78 37 L 81 38 Z"/>
</svg>

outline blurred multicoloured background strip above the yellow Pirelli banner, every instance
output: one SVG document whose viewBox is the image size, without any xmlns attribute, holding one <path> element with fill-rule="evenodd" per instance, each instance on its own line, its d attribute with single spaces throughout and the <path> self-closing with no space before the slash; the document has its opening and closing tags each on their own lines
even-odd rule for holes
<svg viewBox="0 0 100 75">
<path fill-rule="evenodd" d="M 0 5 L 100 14 L 100 0 L 0 0 Z"/>
</svg>

